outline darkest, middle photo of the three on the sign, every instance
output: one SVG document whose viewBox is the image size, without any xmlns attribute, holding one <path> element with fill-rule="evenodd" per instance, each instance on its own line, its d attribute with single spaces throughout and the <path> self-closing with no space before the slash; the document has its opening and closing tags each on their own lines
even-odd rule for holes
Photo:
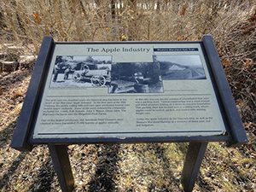
<svg viewBox="0 0 256 192">
<path fill-rule="evenodd" d="M 108 93 L 162 93 L 159 62 L 112 63 Z"/>
</svg>

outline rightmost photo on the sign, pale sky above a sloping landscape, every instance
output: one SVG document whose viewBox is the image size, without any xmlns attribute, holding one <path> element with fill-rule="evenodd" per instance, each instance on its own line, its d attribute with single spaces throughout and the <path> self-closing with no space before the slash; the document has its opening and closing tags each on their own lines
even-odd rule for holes
<svg viewBox="0 0 256 192">
<path fill-rule="evenodd" d="M 207 79 L 200 55 L 153 55 L 163 80 Z"/>
</svg>

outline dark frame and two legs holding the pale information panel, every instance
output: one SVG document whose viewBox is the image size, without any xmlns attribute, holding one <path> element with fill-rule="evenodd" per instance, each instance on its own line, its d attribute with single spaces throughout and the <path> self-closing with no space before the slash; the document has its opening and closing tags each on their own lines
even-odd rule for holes
<svg viewBox="0 0 256 192">
<path fill-rule="evenodd" d="M 49 71 L 51 61 L 57 44 L 200 44 L 207 64 L 207 71 L 212 80 L 219 111 L 222 115 L 225 135 L 211 136 L 156 136 L 156 137 L 49 137 L 33 138 L 34 128 L 37 124 L 39 108 L 44 97 L 46 77 L 52 72 Z M 90 49 L 89 49 L 90 50 Z M 143 50 L 143 49 L 142 49 Z M 155 51 L 166 51 L 156 49 Z M 172 50 L 168 50 L 172 51 Z M 176 49 L 175 51 L 179 51 Z M 190 51 L 193 51 L 190 49 Z M 139 75 L 138 75 L 139 76 Z M 183 167 L 182 183 L 185 191 L 191 191 L 195 184 L 196 175 L 201 166 L 201 160 L 207 148 L 208 142 L 227 142 L 229 146 L 238 146 L 247 143 L 247 135 L 241 122 L 236 103 L 226 80 L 224 70 L 218 58 L 218 53 L 211 36 L 204 36 L 198 42 L 108 42 L 108 43 L 58 43 L 51 37 L 44 37 L 38 60 L 32 73 L 26 99 L 20 112 L 20 118 L 15 128 L 15 134 L 11 147 L 20 151 L 31 151 L 35 144 L 48 144 L 49 151 L 55 164 L 55 170 L 61 183 L 63 191 L 70 191 L 73 186 L 73 174 L 71 172 L 66 146 L 74 143 L 174 143 L 189 142 L 189 150 Z M 69 165 L 69 166 L 68 166 Z M 66 167 L 66 168 L 65 168 Z"/>
</svg>

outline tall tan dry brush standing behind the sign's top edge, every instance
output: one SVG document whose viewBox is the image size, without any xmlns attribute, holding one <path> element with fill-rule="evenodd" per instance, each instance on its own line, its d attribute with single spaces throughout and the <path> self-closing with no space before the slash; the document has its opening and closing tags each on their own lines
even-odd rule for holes
<svg viewBox="0 0 256 192">
<path fill-rule="evenodd" d="M 115 2 L 114 9 L 111 2 Z M 55 41 L 198 40 L 204 34 L 222 38 L 237 22 L 252 15 L 255 3 L 148 0 L 137 1 L 136 6 L 110 0 L 3 0 L 1 8 L 6 23 L 2 40 L 32 43 L 38 52 L 45 35 Z"/>
</svg>

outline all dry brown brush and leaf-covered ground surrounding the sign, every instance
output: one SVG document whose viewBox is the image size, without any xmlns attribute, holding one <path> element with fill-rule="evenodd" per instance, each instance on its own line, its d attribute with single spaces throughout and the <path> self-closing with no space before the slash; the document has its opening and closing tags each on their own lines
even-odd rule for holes
<svg viewBox="0 0 256 192">
<path fill-rule="evenodd" d="M 253 0 L 44 0 L 0 3 L 0 60 L 55 41 L 195 41 L 211 34 L 250 142 L 210 143 L 195 191 L 256 191 L 256 3 Z M 16 62 L 17 63 L 17 62 Z M 49 151 L 9 147 L 32 65 L 0 73 L 0 191 L 59 191 Z M 71 145 L 73 191 L 182 191 L 187 143 Z"/>
</svg>

